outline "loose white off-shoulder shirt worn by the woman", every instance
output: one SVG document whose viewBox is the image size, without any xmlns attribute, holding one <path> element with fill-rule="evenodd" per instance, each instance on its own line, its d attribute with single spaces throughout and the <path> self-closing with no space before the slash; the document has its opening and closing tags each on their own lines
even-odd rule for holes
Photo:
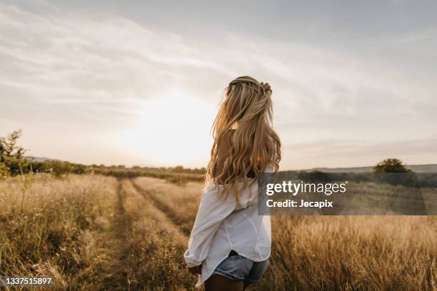
<svg viewBox="0 0 437 291">
<path fill-rule="evenodd" d="M 273 172 L 273 166 L 269 165 L 266 172 Z M 258 215 L 258 183 L 241 191 L 238 203 L 233 190 L 229 190 L 225 199 L 218 197 L 218 188 L 222 190 L 223 185 L 215 188 L 209 183 L 202 190 L 189 248 L 184 254 L 189 267 L 202 265 L 196 287 L 212 275 L 231 250 L 253 262 L 270 257 L 270 216 Z"/>
</svg>

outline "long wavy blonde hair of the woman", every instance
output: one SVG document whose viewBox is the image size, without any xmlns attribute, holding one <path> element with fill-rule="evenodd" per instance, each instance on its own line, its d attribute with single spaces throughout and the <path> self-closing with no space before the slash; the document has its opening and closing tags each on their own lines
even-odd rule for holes
<svg viewBox="0 0 437 291">
<path fill-rule="evenodd" d="M 231 81 L 224 89 L 223 101 L 212 126 L 214 144 L 206 170 L 206 183 L 218 185 L 217 181 L 226 177 L 221 184 L 225 195 L 229 189 L 236 190 L 238 200 L 239 191 L 256 183 L 258 173 L 263 173 L 269 164 L 278 171 L 281 141 L 272 128 L 272 119 L 271 90 L 265 91 L 261 83 L 249 76 Z M 231 146 L 226 156 L 220 157 L 224 159 L 223 170 L 215 177 L 218 142 L 231 130 Z M 249 172 L 255 175 L 250 185 L 247 178 Z M 241 179 L 243 185 L 236 189 Z"/>
</svg>

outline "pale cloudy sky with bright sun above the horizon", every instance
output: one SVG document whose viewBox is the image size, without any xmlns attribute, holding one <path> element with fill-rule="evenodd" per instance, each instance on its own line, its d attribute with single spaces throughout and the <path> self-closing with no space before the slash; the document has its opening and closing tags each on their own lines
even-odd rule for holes
<svg viewBox="0 0 437 291">
<path fill-rule="evenodd" d="M 435 1 L 0 1 L 0 136 L 204 167 L 223 88 L 271 84 L 281 169 L 437 163 Z"/>
</svg>

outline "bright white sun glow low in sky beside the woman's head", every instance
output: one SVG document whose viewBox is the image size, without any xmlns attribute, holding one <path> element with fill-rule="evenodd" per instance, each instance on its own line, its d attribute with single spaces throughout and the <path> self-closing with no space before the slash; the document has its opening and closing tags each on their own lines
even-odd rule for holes
<svg viewBox="0 0 437 291">
<path fill-rule="evenodd" d="M 141 116 L 120 141 L 138 165 L 206 166 L 216 106 L 174 89 L 165 98 L 141 103 Z"/>
</svg>

